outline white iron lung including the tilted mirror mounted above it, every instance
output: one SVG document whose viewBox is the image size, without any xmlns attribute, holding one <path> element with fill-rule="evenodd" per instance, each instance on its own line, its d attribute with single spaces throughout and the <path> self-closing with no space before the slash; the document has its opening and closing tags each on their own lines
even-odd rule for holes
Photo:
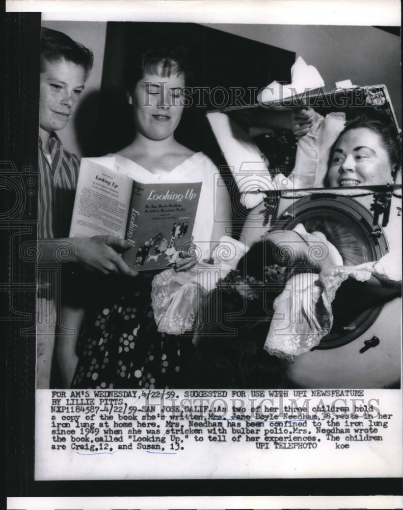
<svg viewBox="0 0 403 510">
<path fill-rule="evenodd" d="M 317 137 L 312 131 L 312 140 L 305 145 L 304 137 L 295 139 L 290 121 L 291 110 L 302 106 L 321 116 Z M 207 114 L 239 192 L 240 205 L 236 197 L 232 202 L 239 216 L 240 239 L 247 246 L 272 229 L 292 230 L 302 223 L 307 232 L 322 232 L 336 246 L 343 266 L 378 261 L 389 254 L 386 265 L 395 271 L 395 278 L 390 278 L 393 292 L 388 294 L 382 286 L 377 290 L 376 282 L 365 286 L 370 295 L 362 299 L 366 307 L 356 306 L 360 296 L 352 292 L 345 302 L 337 303 L 336 320 L 334 302 L 330 334 L 311 351 L 295 356 L 287 369 L 290 387 L 396 388 L 400 384 L 401 169 L 393 186 L 327 187 L 331 147 L 345 122 L 362 114 L 388 119 L 392 136 L 400 143 L 401 130 L 385 85 L 308 89 L 272 103 Z M 387 278 L 382 285 L 389 285 L 386 282 Z"/>
</svg>

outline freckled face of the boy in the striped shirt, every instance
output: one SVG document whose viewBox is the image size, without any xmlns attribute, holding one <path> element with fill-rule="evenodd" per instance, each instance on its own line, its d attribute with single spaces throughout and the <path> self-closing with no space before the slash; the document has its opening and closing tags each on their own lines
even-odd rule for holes
<svg viewBox="0 0 403 510">
<path fill-rule="evenodd" d="M 46 132 L 63 129 L 84 90 L 85 70 L 74 62 L 45 61 L 40 74 L 39 126 Z"/>
</svg>

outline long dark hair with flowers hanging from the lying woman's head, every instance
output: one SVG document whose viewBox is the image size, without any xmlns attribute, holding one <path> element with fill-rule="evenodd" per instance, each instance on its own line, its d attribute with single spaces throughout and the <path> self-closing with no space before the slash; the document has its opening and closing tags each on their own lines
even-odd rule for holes
<svg viewBox="0 0 403 510">
<path fill-rule="evenodd" d="M 289 248 L 289 249 L 288 249 Z M 203 304 L 192 381 L 206 388 L 284 388 L 284 362 L 263 350 L 273 303 L 296 273 L 317 270 L 291 247 L 253 244 Z"/>
</svg>

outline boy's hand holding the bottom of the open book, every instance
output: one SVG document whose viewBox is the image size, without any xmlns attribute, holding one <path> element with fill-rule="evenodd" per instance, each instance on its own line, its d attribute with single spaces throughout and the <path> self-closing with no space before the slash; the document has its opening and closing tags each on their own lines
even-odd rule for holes
<svg viewBox="0 0 403 510">
<path fill-rule="evenodd" d="M 137 276 L 139 273 L 129 268 L 119 253 L 132 246 L 130 241 L 115 236 L 73 237 L 68 239 L 74 245 L 73 262 L 89 271 L 103 274 L 117 273 Z"/>
</svg>

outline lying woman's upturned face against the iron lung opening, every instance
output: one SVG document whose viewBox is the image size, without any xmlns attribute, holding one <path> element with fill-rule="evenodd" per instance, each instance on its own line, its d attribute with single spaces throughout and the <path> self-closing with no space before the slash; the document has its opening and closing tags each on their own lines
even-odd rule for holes
<svg viewBox="0 0 403 510">
<path fill-rule="evenodd" d="M 335 246 L 321 232 L 309 233 L 302 223 L 293 230 L 274 231 L 266 234 L 275 244 L 275 253 L 281 255 L 302 254 L 315 266 L 321 269 L 331 266 L 342 266 L 343 260 Z"/>
</svg>

